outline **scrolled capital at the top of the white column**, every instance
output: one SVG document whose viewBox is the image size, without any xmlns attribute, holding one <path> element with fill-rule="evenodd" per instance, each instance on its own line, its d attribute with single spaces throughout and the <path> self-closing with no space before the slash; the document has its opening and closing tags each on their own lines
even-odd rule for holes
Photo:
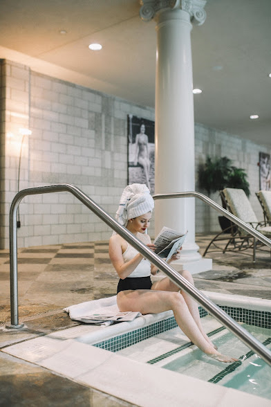
<svg viewBox="0 0 271 407">
<path fill-rule="evenodd" d="M 150 21 L 165 10 L 183 10 L 189 13 L 190 20 L 201 26 L 206 19 L 204 10 L 207 0 L 140 0 L 140 17 L 143 21 Z"/>
</svg>

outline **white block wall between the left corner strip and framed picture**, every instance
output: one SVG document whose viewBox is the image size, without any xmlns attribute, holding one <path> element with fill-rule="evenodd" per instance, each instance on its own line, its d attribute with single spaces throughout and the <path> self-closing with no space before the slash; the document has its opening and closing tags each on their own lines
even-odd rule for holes
<svg viewBox="0 0 271 407">
<path fill-rule="evenodd" d="M 114 216 L 127 184 L 129 113 L 154 118 L 153 109 L 140 109 L 112 96 L 32 72 L 28 186 L 73 183 Z M 26 226 L 22 224 L 22 246 L 29 242 L 107 239 L 111 235 L 106 224 L 68 194 L 29 197 L 28 208 L 31 210 L 25 221 L 34 222 L 34 236 L 24 237 L 22 230 Z"/>
</svg>

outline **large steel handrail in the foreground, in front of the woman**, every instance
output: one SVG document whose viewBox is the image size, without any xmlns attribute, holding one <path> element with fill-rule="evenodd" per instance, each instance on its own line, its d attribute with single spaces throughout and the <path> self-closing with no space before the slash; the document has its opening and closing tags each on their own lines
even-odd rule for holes
<svg viewBox="0 0 271 407">
<path fill-rule="evenodd" d="M 100 206 L 97 205 L 91 198 L 89 198 L 79 188 L 71 184 L 57 184 L 53 186 L 41 186 L 35 188 L 26 188 L 21 190 L 15 195 L 10 207 L 10 311 L 11 311 L 11 325 L 7 327 L 19 328 L 24 325 L 19 325 L 18 318 L 18 278 L 17 278 L 17 209 L 21 199 L 27 195 L 38 195 L 50 192 L 71 192 L 77 199 L 84 205 L 91 209 L 95 215 L 100 217 L 108 226 L 110 226 L 116 233 L 122 236 L 131 246 L 136 248 L 139 253 L 163 271 L 173 282 L 175 282 L 180 289 L 186 291 L 192 298 L 194 298 L 200 305 L 202 305 L 214 318 L 218 319 L 225 327 L 227 327 L 233 334 L 235 334 L 245 345 L 250 347 L 254 352 L 259 354 L 263 360 L 271 365 L 271 352 L 261 342 L 254 338 L 247 332 L 241 325 L 236 323 L 229 315 L 221 308 L 214 304 L 207 296 L 200 292 L 193 284 L 188 282 L 177 271 L 175 271 L 164 260 L 161 260 L 158 255 L 153 253 L 151 249 L 145 246 L 139 239 L 134 237 L 132 233 L 126 228 L 121 226 L 118 221 L 113 219 L 106 213 Z M 186 194 L 187 192 L 185 192 Z M 191 194 L 191 192 L 189 192 Z M 191 196 L 191 195 L 189 195 Z M 177 196 L 176 196 L 177 197 Z M 157 199 L 157 196 L 156 196 Z"/>
</svg>

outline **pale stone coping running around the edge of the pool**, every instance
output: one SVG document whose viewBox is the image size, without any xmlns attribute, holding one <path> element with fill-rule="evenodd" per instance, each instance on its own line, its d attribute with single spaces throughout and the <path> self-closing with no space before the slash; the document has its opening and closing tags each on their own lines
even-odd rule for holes
<svg viewBox="0 0 271 407">
<path fill-rule="evenodd" d="M 271 309 L 271 300 L 237 298 L 241 296 L 218 295 L 206 291 L 205 294 L 219 305 L 222 305 L 221 301 L 228 301 L 223 305 L 241 307 L 240 304 L 243 303 L 243 307 L 245 305 L 247 308 L 247 305 L 251 306 L 255 302 L 256 307 L 262 305 L 261 310 Z M 255 309 L 254 306 L 251 309 Z M 121 332 L 127 332 L 127 329 L 138 329 L 170 316 L 171 311 L 150 314 L 140 316 L 130 323 L 106 328 L 80 325 L 5 347 L 2 352 L 40 365 L 51 372 L 136 406 L 197 407 L 200 404 L 200 407 L 270 407 L 268 399 L 157 368 L 155 365 L 133 361 L 108 350 L 90 346 L 91 343 L 100 341 L 100 338 L 119 335 Z"/>
</svg>

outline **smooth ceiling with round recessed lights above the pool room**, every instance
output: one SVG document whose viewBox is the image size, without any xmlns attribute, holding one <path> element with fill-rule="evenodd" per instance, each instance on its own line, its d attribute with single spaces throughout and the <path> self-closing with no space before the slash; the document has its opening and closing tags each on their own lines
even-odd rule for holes
<svg viewBox="0 0 271 407">
<path fill-rule="evenodd" d="M 0 0 L 0 57 L 154 107 L 155 21 L 139 10 L 138 0 Z M 271 1 L 208 0 L 205 11 L 191 31 L 195 120 L 271 148 Z"/>
</svg>

